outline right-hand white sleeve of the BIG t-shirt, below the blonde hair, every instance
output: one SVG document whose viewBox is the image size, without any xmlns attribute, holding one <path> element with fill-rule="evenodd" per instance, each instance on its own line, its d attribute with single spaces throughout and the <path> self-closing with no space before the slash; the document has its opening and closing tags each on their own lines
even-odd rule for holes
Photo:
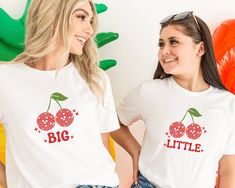
<svg viewBox="0 0 235 188">
<path fill-rule="evenodd" d="M 101 133 L 107 133 L 120 128 L 113 100 L 113 93 L 108 76 L 105 74 L 104 101 L 100 105 L 99 122 Z"/>
</svg>

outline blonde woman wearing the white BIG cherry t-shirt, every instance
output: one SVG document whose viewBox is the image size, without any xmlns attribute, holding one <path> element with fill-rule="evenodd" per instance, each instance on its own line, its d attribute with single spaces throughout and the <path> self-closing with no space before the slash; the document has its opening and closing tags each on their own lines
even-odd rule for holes
<svg viewBox="0 0 235 188">
<path fill-rule="evenodd" d="M 119 123 L 96 25 L 90 0 L 32 1 L 25 51 L 0 65 L 8 188 L 118 186 L 104 140 Z"/>
</svg>

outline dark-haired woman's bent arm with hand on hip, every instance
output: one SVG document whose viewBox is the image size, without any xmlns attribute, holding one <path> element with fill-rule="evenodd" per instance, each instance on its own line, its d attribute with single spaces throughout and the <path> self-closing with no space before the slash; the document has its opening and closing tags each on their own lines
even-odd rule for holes
<svg viewBox="0 0 235 188">
<path fill-rule="evenodd" d="M 113 131 L 110 133 L 111 137 L 122 146 L 132 157 L 133 161 L 133 179 L 135 184 L 138 181 L 138 161 L 141 146 L 137 142 L 137 140 L 132 136 L 129 128 L 123 124 L 121 124 L 120 129 Z"/>
</svg>

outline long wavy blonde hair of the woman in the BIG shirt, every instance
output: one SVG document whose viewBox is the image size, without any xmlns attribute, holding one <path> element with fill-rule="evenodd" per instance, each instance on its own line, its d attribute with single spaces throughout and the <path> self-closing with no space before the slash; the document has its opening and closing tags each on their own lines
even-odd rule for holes
<svg viewBox="0 0 235 188">
<path fill-rule="evenodd" d="M 104 97 L 104 77 L 97 66 L 99 62 L 97 48 L 93 39 L 87 40 L 83 54 L 69 53 L 70 20 L 74 6 L 84 0 L 33 0 L 28 11 L 25 36 L 25 51 L 18 55 L 14 63 L 37 63 L 47 54 L 63 46 L 61 58 L 56 65 L 57 71 L 71 60 L 83 79 L 88 83 L 98 101 Z M 93 11 L 92 27 L 97 30 L 97 14 L 94 4 L 89 0 Z"/>
</svg>

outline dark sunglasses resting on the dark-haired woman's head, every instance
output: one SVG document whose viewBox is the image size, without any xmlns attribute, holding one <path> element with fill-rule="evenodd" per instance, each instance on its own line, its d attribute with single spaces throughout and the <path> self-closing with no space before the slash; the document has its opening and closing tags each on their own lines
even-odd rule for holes
<svg viewBox="0 0 235 188">
<path fill-rule="evenodd" d="M 197 28 L 199 30 L 199 32 L 201 33 L 201 29 L 199 27 L 199 24 L 198 24 L 198 21 L 196 19 L 196 17 L 193 15 L 193 11 L 186 11 L 186 12 L 181 12 L 179 14 L 173 14 L 173 15 L 170 15 L 170 16 L 167 16 L 166 18 L 162 19 L 160 21 L 160 24 L 164 24 L 164 23 L 167 23 L 167 22 L 170 22 L 170 21 L 180 21 L 180 20 L 185 20 L 187 19 L 189 16 L 192 16 L 196 25 L 197 25 Z"/>
</svg>

